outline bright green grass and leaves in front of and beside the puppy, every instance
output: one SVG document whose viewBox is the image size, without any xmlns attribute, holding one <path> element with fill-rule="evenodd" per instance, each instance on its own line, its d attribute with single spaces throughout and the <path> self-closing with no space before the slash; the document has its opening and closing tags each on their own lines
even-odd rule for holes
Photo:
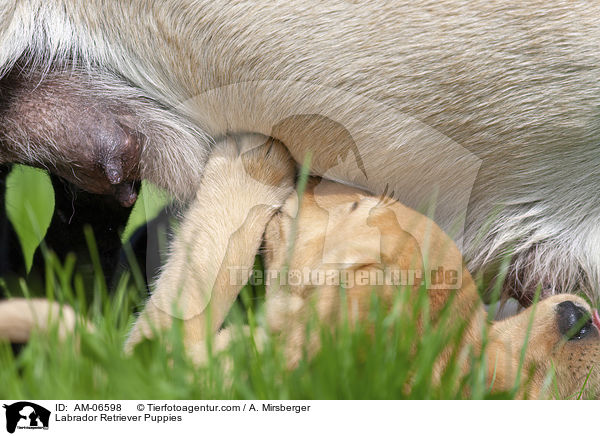
<svg viewBox="0 0 600 436">
<path fill-rule="evenodd" d="M 40 174 L 35 177 L 30 183 L 43 185 Z M 14 182 L 12 186 L 23 180 Z M 44 187 L 36 185 L 32 189 L 42 192 Z M 15 220 L 31 221 L 29 229 L 19 235 L 23 244 L 29 244 L 26 252 L 32 256 L 40 234 L 43 235 L 48 205 L 45 208 L 39 204 L 40 207 L 19 205 L 17 200 L 22 197 L 16 194 L 10 197 L 14 201 L 12 205 L 7 204 L 7 208 L 20 213 L 13 214 Z M 142 194 L 127 234 L 159 209 L 160 201 L 149 200 L 146 204 L 143 200 Z M 35 228 L 38 233 L 32 233 Z M 467 320 L 456 322 L 451 311 L 446 310 L 438 324 L 429 322 L 426 291 L 420 292 L 416 303 L 411 300 L 409 305 L 408 293 L 399 290 L 392 310 L 384 310 L 374 299 L 365 325 L 351 328 L 348 322 L 342 322 L 331 330 L 317 322 L 310 323 L 307 328 L 318 333 L 321 349 L 311 359 L 302 359 L 293 370 L 287 368 L 284 344 L 272 335 L 268 335 L 260 348 L 252 335 L 234 340 L 225 352 L 197 367 L 186 358 L 181 326 L 177 324 L 163 337 L 140 344 L 133 355 L 125 355 L 125 338 L 135 313 L 141 310 L 147 297 L 145 283 L 134 269 L 124 274 L 116 288 L 109 291 L 89 231 L 87 238 L 95 269 L 91 282 L 77 271 L 74 258 L 61 264 L 52 253 L 44 252 L 44 289 L 30 289 L 23 279 L 18 289 L 8 289 L 7 294 L 46 295 L 50 300 L 68 304 L 89 320 L 93 331 L 78 326 L 75 335 L 65 340 L 59 340 L 56 332 L 34 336 L 17 355 L 10 344 L 0 343 L 0 398 L 484 399 L 515 396 L 516 389 L 492 393 L 482 356 L 458 347 Z M 260 258 L 255 268 L 262 269 Z M 249 325 L 251 331 L 264 327 L 264 298 L 264 288 L 244 287 L 227 324 L 239 331 L 244 325 Z M 420 330 L 416 328 L 418 321 L 422 321 Z M 446 370 L 435 380 L 432 376 L 435 362 L 448 346 L 455 351 Z M 465 361 L 470 368 L 466 373 L 462 370 Z"/>
</svg>

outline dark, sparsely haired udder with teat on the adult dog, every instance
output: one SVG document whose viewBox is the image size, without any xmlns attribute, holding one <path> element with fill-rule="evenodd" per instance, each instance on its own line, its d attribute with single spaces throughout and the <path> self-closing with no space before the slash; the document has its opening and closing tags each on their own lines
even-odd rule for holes
<svg viewBox="0 0 600 436">
<path fill-rule="evenodd" d="M 144 137 L 127 107 L 70 72 L 0 80 L 0 161 L 45 167 L 123 206 L 137 198 Z"/>
</svg>

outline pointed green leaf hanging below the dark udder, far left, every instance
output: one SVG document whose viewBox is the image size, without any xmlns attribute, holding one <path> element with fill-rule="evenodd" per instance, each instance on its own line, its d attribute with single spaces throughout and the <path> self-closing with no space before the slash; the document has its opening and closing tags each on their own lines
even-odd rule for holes
<svg viewBox="0 0 600 436">
<path fill-rule="evenodd" d="M 29 272 L 33 255 L 44 239 L 54 213 L 54 189 L 48 174 L 15 165 L 6 178 L 5 208 L 21 242 Z"/>
</svg>

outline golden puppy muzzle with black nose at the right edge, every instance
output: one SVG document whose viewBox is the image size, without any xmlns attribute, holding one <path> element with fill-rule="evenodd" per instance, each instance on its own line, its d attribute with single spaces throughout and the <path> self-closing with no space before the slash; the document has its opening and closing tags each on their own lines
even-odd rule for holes
<svg viewBox="0 0 600 436">
<path fill-rule="evenodd" d="M 524 366 L 532 375 L 529 395 L 571 398 L 600 395 L 600 318 L 582 298 L 554 295 L 492 327 L 490 365 L 495 367 L 496 386 L 510 389 L 517 375 L 525 344 Z M 556 383 L 546 386 L 549 370 Z"/>
</svg>

